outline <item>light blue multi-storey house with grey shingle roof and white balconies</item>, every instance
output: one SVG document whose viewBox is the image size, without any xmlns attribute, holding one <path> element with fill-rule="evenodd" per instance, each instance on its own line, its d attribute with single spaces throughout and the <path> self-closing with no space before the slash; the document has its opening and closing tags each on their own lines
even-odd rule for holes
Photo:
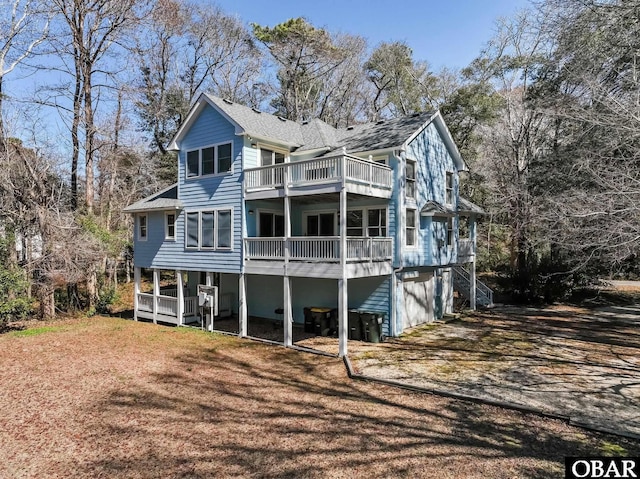
<svg viewBox="0 0 640 479">
<path fill-rule="evenodd" d="M 439 112 L 335 129 L 203 94 L 170 149 L 178 183 L 125 209 L 136 318 L 198 320 L 196 287 L 215 284 L 240 336 L 248 318 L 283 319 L 287 346 L 310 308 L 335 309 L 344 355 L 350 311 L 398 336 L 451 312 L 454 283 L 485 297 L 470 287 L 482 210 L 458 195 L 466 166 Z"/>
</svg>

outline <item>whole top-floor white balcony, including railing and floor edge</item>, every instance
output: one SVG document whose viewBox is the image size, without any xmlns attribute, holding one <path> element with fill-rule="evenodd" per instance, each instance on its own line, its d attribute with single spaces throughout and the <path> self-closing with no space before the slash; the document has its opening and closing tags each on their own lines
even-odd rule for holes
<svg viewBox="0 0 640 479">
<path fill-rule="evenodd" d="M 245 170 L 246 199 L 336 193 L 391 198 L 393 171 L 372 161 L 348 155 L 279 163 Z"/>
</svg>

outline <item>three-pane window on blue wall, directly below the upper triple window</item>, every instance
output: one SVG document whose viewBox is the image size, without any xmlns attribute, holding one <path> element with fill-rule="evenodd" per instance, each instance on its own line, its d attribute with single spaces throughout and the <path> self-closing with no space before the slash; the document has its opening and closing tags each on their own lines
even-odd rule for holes
<svg viewBox="0 0 640 479">
<path fill-rule="evenodd" d="M 187 213 L 186 247 L 193 249 L 231 249 L 232 210 Z"/>
</svg>

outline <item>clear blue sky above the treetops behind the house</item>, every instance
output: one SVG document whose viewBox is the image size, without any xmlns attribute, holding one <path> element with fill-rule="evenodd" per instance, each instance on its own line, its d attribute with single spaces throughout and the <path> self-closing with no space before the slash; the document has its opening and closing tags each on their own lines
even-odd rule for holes
<svg viewBox="0 0 640 479">
<path fill-rule="evenodd" d="M 478 56 L 499 17 L 509 17 L 528 0 L 216 0 L 245 23 L 274 26 L 305 17 L 331 32 L 367 38 L 372 46 L 405 41 L 414 59 L 432 70 L 463 68 Z"/>
</svg>

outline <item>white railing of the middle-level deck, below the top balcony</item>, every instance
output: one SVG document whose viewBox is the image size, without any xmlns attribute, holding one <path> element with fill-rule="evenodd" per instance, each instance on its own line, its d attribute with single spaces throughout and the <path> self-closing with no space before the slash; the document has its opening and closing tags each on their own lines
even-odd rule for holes
<svg viewBox="0 0 640 479">
<path fill-rule="evenodd" d="M 290 261 L 340 261 L 340 237 L 246 238 L 248 260 L 276 260 L 285 258 L 288 245 Z M 347 261 L 384 261 L 393 255 L 391 238 L 347 238 Z"/>
</svg>

